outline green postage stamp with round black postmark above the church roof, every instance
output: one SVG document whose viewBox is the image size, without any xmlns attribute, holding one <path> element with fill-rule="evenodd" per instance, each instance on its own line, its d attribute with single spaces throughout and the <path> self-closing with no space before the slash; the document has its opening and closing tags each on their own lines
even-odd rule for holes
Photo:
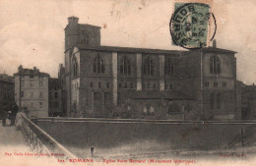
<svg viewBox="0 0 256 166">
<path fill-rule="evenodd" d="M 212 34 L 209 31 L 210 21 L 213 22 Z M 198 49 L 206 47 L 208 41 L 213 40 L 217 26 L 208 4 L 186 3 L 175 4 L 169 28 L 174 44 L 187 49 Z"/>
</svg>

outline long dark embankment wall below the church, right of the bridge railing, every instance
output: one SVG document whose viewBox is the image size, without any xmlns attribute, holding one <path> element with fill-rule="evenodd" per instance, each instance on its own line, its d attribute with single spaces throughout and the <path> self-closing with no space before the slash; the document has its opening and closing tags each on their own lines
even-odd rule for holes
<svg viewBox="0 0 256 166">
<path fill-rule="evenodd" d="M 87 157 L 91 146 L 96 148 L 96 156 L 226 149 L 237 140 L 241 129 L 245 135 L 250 134 L 256 122 L 55 118 L 38 119 L 37 125 L 72 152 Z M 253 136 L 247 138 L 252 139 Z M 238 141 L 237 145 L 240 144 Z"/>
</svg>

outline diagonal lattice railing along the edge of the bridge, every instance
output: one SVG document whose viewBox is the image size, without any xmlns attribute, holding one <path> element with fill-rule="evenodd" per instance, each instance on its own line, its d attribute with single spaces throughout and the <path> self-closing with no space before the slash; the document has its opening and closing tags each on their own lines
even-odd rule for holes
<svg viewBox="0 0 256 166">
<path fill-rule="evenodd" d="M 21 126 L 31 149 L 41 155 L 54 156 L 61 159 L 77 158 L 73 153 L 36 126 L 26 115 L 22 115 Z"/>
</svg>

